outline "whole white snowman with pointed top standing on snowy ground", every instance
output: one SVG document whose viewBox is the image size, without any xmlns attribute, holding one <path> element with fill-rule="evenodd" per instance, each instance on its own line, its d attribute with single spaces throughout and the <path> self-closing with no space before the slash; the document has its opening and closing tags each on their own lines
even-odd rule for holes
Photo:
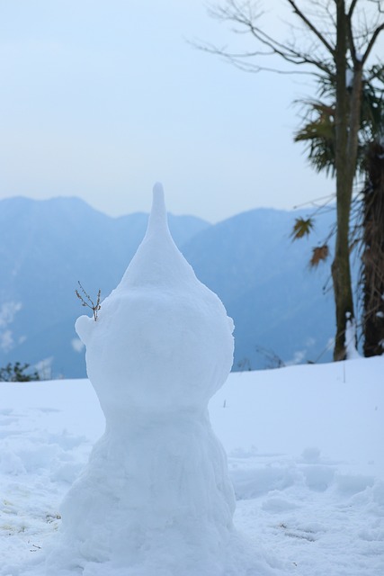
<svg viewBox="0 0 384 576">
<path fill-rule="evenodd" d="M 76 331 L 106 428 L 63 503 L 55 562 L 221 574 L 235 500 L 207 406 L 232 365 L 233 322 L 174 245 L 161 184 L 121 284 Z"/>
</svg>

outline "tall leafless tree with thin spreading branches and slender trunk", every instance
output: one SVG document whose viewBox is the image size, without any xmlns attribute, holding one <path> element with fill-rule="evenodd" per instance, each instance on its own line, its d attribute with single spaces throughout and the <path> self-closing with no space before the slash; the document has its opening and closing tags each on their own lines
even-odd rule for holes
<svg viewBox="0 0 384 576">
<path fill-rule="evenodd" d="M 235 25 L 255 41 L 255 50 L 231 52 L 212 45 L 199 48 L 228 58 L 252 72 L 274 69 L 304 73 L 335 85 L 336 232 L 332 278 L 335 293 L 336 334 L 334 359 L 346 356 L 345 329 L 354 319 L 349 229 L 353 181 L 356 174 L 358 133 L 362 113 L 362 83 L 372 50 L 384 30 L 381 0 L 282 0 L 290 8 L 298 29 L 290 40 L 279 40 L 264 31 L 261 3 L 226 0 L 210 8 L 210 15 Z M 263 58 L 281 58 L 283 68 L 264 66 Z M 287 65 L 292 65 L 287 69 Z M 371 70 L 374 67 L 371 67 Z"/>
</svg>

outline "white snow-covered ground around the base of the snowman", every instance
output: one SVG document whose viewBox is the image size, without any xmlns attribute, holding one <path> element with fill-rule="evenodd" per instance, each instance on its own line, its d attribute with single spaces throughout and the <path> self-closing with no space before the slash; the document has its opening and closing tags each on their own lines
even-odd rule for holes
<svg viewBox="0 0 384 576">
<path fill-rule="evenodd" d="M 259 576 L 384 574 L 383 412 L 384 357 L 229 375 L 210 420 L 236 527 L 271 567 Z M 45 574 L 60 503 L 103 429 L 87 380 L 0 384 L 0 576 Z"/>
</svg>

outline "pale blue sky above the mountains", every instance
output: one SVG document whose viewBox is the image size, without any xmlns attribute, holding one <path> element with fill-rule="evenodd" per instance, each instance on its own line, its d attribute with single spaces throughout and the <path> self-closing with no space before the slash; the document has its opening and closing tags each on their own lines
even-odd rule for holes
<svg viewBox="0 0 384 576">
<path fill-rule="evenodd" d="M 266 4 L 282 31 L 284 3 Z M 216 222 L 333 193 L 293 143 L 309 80 L 194 41 L 248 46 L 203 0 L 2 0 L 0 199 L 78 196 L 119 216 L 148 211 L 160 181 L 169 211 Z"/>
</svg>

